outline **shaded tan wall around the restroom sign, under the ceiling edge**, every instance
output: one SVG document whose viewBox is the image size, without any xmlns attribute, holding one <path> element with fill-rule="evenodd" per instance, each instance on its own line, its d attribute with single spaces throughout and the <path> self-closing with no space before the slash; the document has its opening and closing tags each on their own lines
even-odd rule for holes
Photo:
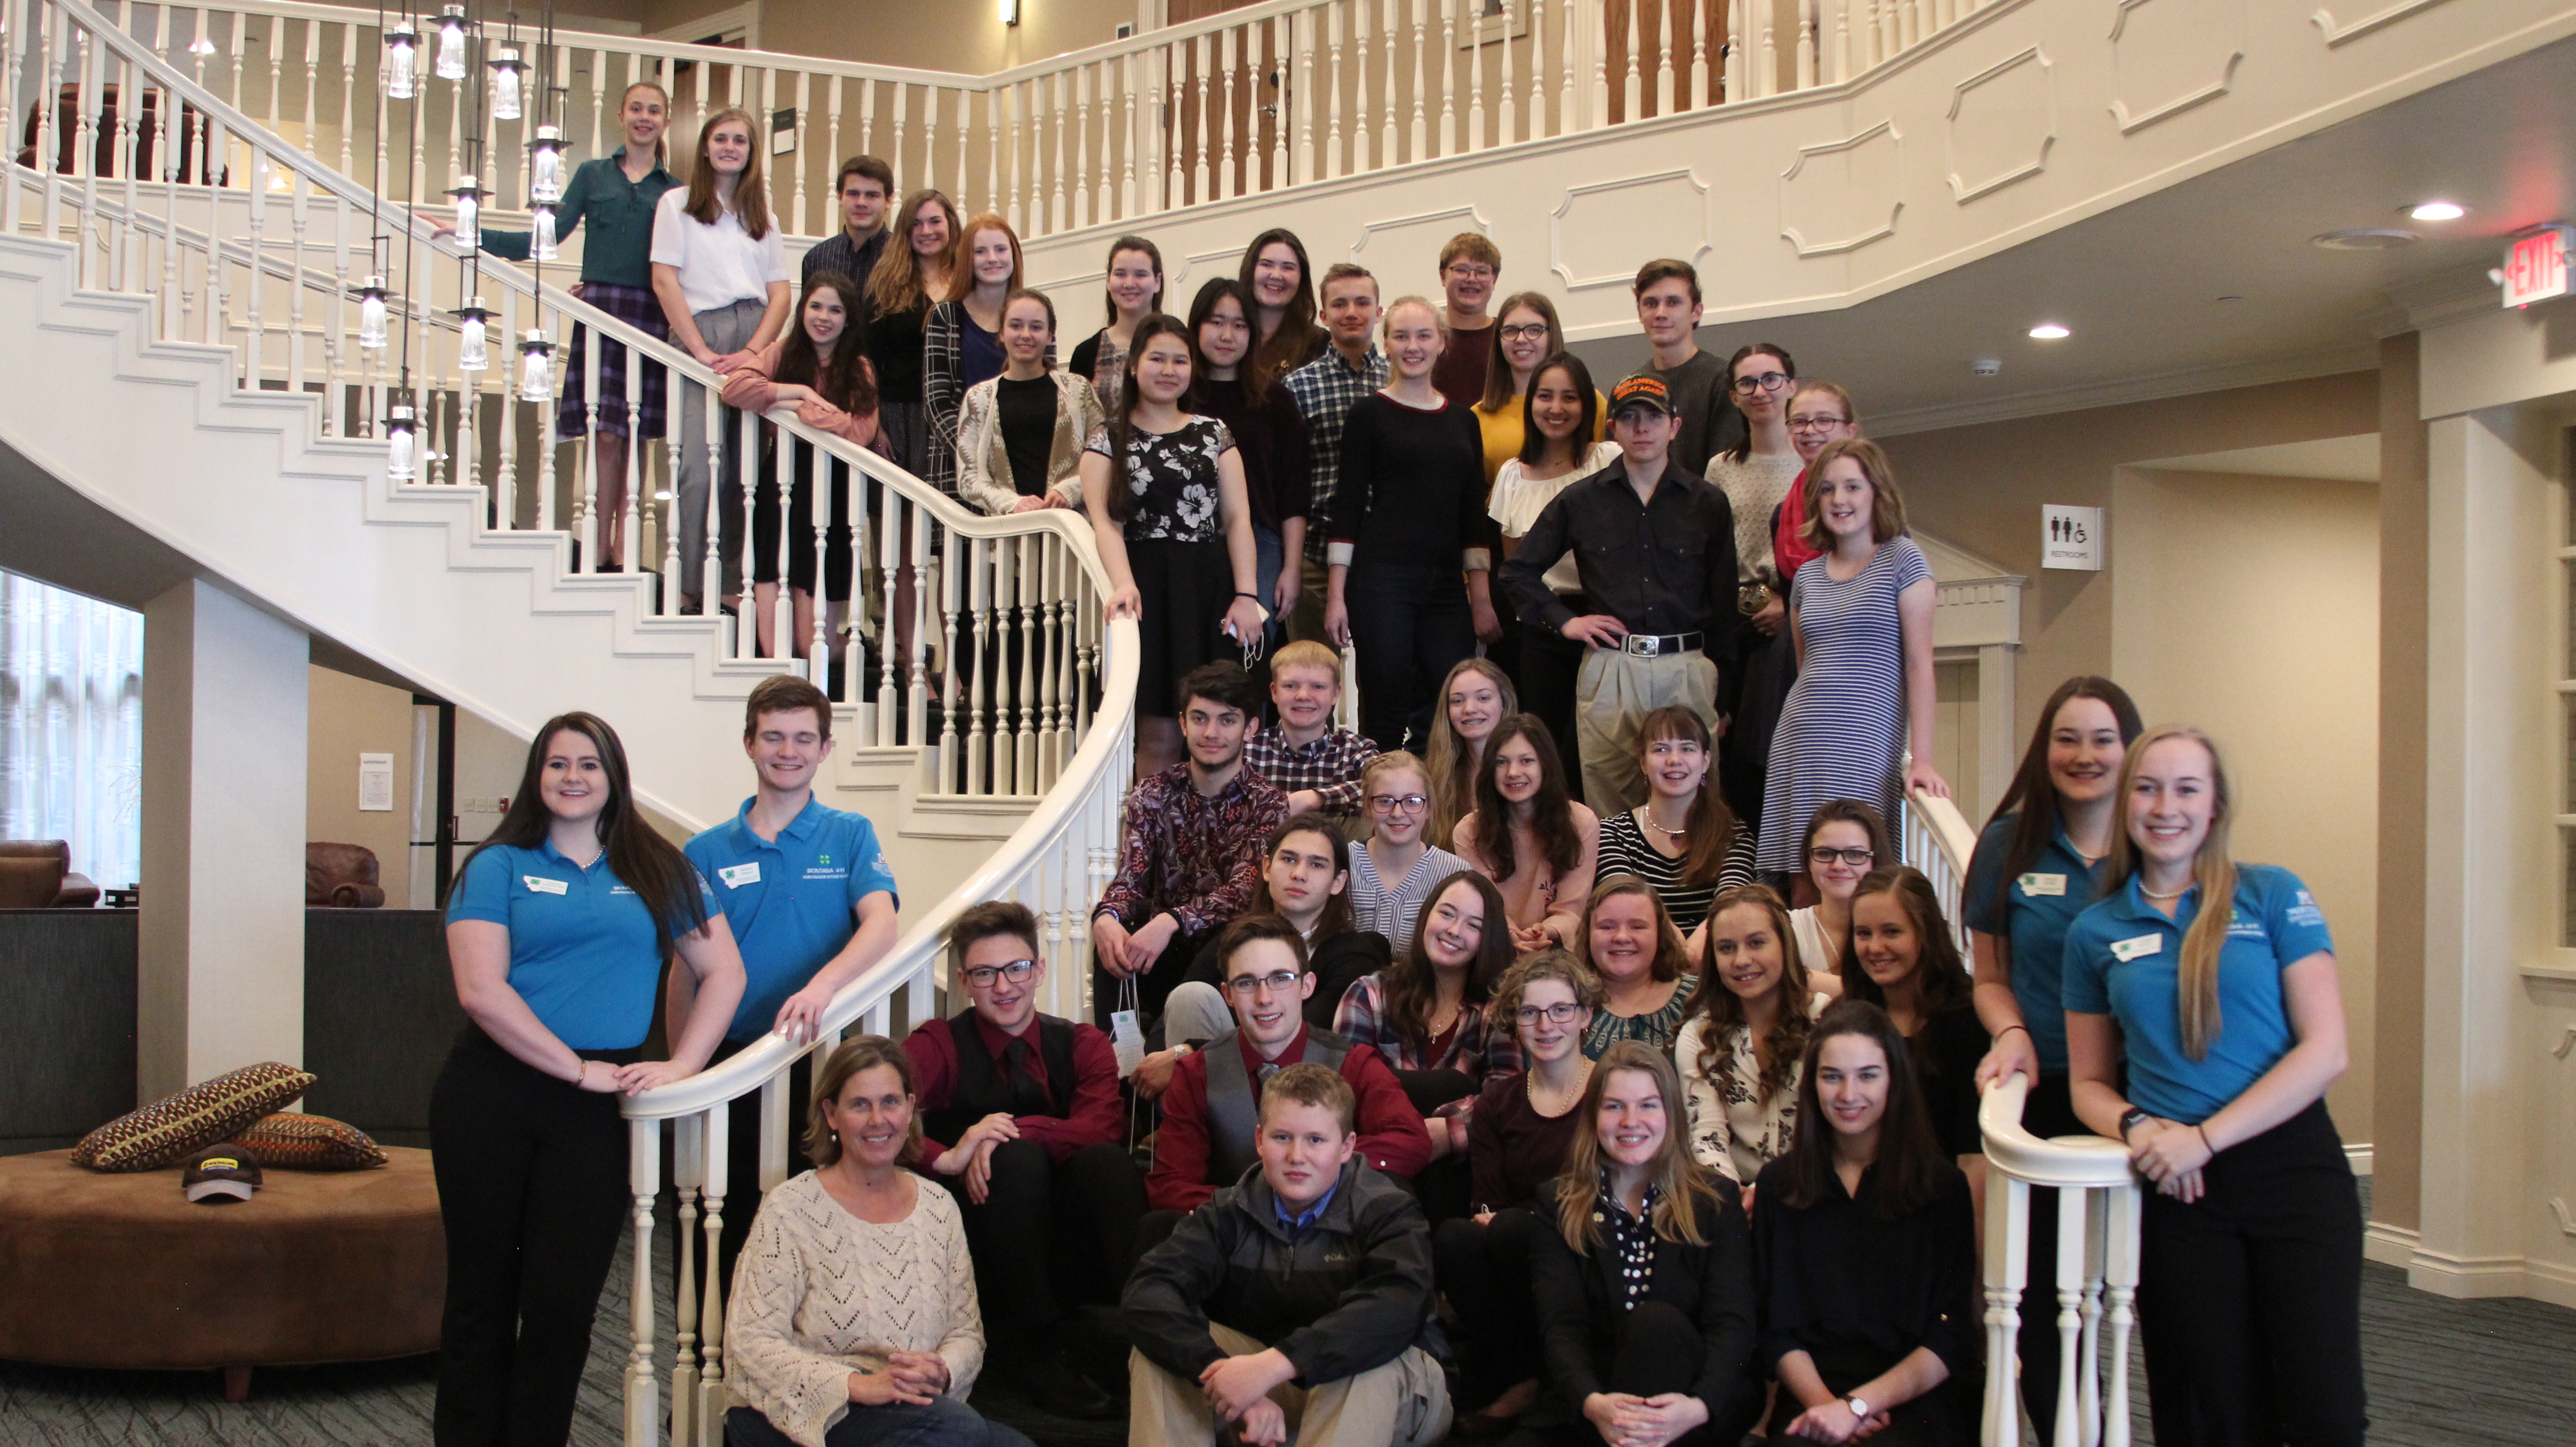
<svg viewBox="0 0 2576 1447">
<path fill-rule="evenodd" d="M 2375 378 L 2354 371 L 1888 438 L 1909 515 L 1927 533 L 2030 579 L 2022 590 L 2014 734 L 2030 731 L 2030 716 L 2069 675 L 2105 672 L 2112 662 L 2120 518 L 2110 518 L 2102 572 L 2043 572 L 2043 502 L 2110 507 L 2112 474 L 2123 463 L 2375 433 Z M 1868 397 L 1860 407 L 1868 422 Z"/>
</svg>

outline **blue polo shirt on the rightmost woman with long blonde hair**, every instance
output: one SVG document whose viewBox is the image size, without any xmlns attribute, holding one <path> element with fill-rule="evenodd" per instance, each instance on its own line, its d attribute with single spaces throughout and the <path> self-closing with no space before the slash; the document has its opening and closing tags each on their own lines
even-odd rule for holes
<svg viewBox="0 0 2576 1447">
<path fill-rule="evenodd" d="M 2182 932 L 2200 917 L 2200 886 L 2166 919 L 2130 878 L 2066 929 L 2066 1009 L 2110 1014 L 2128 1045 L 2128 1099 L 2200 1125 L 2290 1053 L 2280 971 L 2334 950 L 2326 914 L 2285 868 L 2236 865 L 2236 909 L 2218 950 L 2218 1038 L 2200 1061 L 2182 1053 Z"/>
</svg>

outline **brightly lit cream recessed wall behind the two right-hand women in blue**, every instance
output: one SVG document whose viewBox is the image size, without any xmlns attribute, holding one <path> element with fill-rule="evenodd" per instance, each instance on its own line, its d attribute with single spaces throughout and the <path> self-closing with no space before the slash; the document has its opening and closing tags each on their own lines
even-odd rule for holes
<svg viewBox="0 0 2576 1447">
<path fill-rule="evenodd" d="M 2112 677 L 2148 724 L 2226 749 L 2236 857 L 2295 870 L 2334 927 L 2352 1069 L 2326 1105 L 2372 1138 L 2380 499 L 2372 484 L 2120 469 Z M 2295 641 L 2295 646 L 2285 646 Z"/>
</svg>

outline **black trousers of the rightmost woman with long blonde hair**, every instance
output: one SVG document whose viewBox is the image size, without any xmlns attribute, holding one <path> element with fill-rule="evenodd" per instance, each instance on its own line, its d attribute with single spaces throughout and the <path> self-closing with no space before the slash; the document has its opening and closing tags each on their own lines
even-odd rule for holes
<svg viewBox="0 0 2576 1447">
<path fill-rule="evenodd" d="M 2146 1197 L 2138 1323 L 2161 1447 L 2360 1447 L 2362 1205 L 2326 1102 Z"/>
</svg>

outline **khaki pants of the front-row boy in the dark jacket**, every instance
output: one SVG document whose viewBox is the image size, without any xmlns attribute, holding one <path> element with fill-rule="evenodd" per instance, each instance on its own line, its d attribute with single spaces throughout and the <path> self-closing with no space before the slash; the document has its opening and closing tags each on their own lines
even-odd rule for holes
<svg viewBox="0 0 2576 1447">
<path fill-rule="evenodd" d="M 1218 1347 L 1242 1357 L 1262 1344 L 1231 1326 L 1208 1323 Z M 1128 1352 L 1128 1447 L 1206 1447 L 1216 1442 L 1216 1411 L 1198 1390 Z M 1291 1447 L 1425 1447 L 1448 1434 L 1450 1401 L 1440 1362 L 1406 1347 L 1383 1367 L 1319 1388 L 1285 1385 L 1270 1393 L 1288 1414 Z"/>
</svg>

